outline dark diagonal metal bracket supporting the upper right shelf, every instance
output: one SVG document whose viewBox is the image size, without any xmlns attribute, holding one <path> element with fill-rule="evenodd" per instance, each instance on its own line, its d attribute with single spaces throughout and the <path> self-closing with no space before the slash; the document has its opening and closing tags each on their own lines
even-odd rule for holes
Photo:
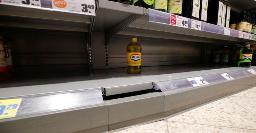
<svg viewBox="0 0 256 133">
<path fill-rule="evenodd" d="M 111 27 L 110 29 L 105 31 L 105 45 L 107 46 L 110 39 L 117 34 L 117 32 L 121 31 L 123 28 L 128 26 L 128 24 L 132 23 L 134 20 L 138 19 L 143 15 L 133 14 L 127 17 L 125 20 L 121 21 L 117 25 Z"/>
</svg>

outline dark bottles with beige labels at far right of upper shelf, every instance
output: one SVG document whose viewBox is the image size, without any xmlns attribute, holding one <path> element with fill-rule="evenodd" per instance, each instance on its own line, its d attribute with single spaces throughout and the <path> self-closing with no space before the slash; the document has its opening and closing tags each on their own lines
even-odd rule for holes
<svg viewBox="0 0 256 133">
<path fill-rule="evenodd" d="M 229 25 L 229 28 L 251 34 L 256 34 L 255 15 L 252 15 L 245 10 L 240 13 L 240 16 L 238 15 L 238 13 L 233 13 L 233 15 L 231 16 L 231 23 Z"/>
</svg>

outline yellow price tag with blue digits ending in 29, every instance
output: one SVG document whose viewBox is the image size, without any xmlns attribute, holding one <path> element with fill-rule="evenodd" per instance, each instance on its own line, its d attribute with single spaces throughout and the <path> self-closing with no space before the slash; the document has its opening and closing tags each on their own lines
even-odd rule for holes
<svg viewBox="0 0 256 133">
<path fill-rule="evenodd" d="M 0 119 L 15 117 L 22 98 L 0 100 Z"/>
</svg>

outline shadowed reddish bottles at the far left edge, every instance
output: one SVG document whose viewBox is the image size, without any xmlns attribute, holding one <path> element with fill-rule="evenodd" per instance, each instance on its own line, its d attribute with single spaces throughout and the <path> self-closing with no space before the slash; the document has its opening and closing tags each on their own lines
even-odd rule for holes
<svg viewBox="0 0 256 133">
<path fill-rule="evenodd" d="M 0 80 L 8 79 L 12 71 L 13 63 L 10 42 L 0 36 Z"/>
</svg>

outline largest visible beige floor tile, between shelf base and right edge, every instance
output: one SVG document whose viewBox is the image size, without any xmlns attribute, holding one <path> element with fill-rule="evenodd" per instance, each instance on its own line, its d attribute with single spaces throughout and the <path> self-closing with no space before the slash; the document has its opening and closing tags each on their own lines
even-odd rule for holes
<svg viewBox="0 0 256 133">
<path fill-rule="evenodd" d="M 248 110 L 237 105 L 228 98 L 208 103 L 207 105 L 197 107 L 167 120 L 233 128 L 256 129 L 256 115 L 248 112 Z"/>
</svg>

